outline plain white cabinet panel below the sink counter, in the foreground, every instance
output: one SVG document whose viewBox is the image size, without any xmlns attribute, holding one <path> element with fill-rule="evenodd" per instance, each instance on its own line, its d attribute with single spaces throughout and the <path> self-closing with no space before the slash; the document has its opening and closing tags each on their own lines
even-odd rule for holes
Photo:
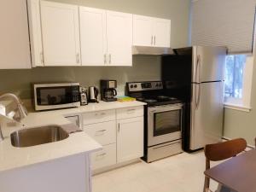
<svg viewBox="0 0 256 192">
<path fill-rule="evenodd" d="M 89 154 L 75 154 L 1 172 L 0 186 L 1 192 L 91 192 Z"/>
</svg>

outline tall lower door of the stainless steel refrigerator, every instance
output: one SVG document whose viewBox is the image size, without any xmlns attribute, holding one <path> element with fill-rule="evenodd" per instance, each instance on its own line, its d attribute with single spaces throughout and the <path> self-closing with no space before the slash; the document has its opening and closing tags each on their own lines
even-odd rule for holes
<svg viewBox="0 0 256 192">
<path fill-rule="evenodd" d="M 224 82 L 192 84 L 190 150 L 218 143 L 223 134 Z"/>
</svg>

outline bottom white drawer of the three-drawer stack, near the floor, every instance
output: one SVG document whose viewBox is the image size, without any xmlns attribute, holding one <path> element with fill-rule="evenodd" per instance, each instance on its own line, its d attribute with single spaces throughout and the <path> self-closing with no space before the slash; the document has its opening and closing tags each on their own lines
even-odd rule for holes
<svg viewBox="0 0 256 192">
<path fill-rule="evenodd" d="M 116 164 L 116 144 L 103 146 L 102 150 L 91 154 L 90 158 L 93 170 L 113 166 Z"/>
</svg>

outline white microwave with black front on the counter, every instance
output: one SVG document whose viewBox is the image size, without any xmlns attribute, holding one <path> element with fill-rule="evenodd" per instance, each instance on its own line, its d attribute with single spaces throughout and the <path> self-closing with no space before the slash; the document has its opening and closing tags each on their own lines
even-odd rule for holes
<svg viewBox="0 0 256 192">
<path fill-rule="evenodd" d="M 32 84 L 36 111 L 80 106 L 79 83 Z"/>
</svg>

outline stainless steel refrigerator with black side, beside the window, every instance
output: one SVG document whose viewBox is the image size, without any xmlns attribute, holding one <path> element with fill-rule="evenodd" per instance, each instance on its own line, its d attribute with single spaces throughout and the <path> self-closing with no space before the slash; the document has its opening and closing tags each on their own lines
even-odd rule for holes
<svg viewBox="0 0 256 192">
<path fill-rule="evenodd" d="M 183 148 L 194 151 L 218 143 L 223 135 L 226 48 L 193 46 L 174 52 L 171 59 L 163 59 L 162 75 L 169 95 L 187 102 Z"/>
</svg>

